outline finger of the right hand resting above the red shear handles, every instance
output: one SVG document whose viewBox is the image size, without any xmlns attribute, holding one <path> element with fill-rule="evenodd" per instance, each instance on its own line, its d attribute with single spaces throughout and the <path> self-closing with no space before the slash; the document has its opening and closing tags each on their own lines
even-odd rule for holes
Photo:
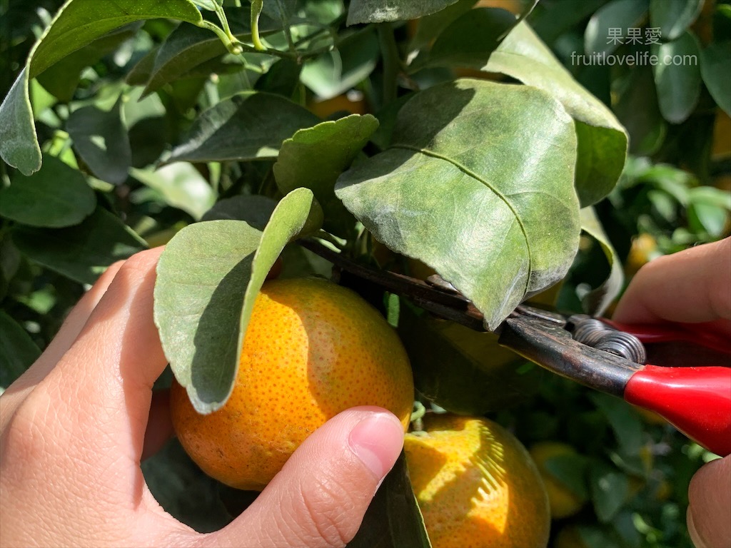
<svg viewBox="0 0 731 548">
<path fill-rule="evenodd" d="M 715 321 L 731 333 L 731 237 L 649 262 L 629 284 L 613 319 Z"/>
</svg>

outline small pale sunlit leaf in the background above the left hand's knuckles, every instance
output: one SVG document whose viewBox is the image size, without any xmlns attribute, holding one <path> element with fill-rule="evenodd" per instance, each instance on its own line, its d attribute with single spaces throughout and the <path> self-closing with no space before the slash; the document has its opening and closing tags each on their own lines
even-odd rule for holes
<svg viewBox="0 0 731 548">
<path fill-rule="evenodd" d="M 216 202 L 216 193 L 191 164 L 178 162 L 157 171 L 132 170 L 132 176 L 158 192 L 163 201 L 198 220 Z"/>
</svg>

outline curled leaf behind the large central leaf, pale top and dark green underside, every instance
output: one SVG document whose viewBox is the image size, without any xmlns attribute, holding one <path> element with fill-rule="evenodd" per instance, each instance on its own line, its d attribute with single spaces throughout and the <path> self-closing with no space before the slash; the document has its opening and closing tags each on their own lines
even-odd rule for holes
<svg viewBox="0 0 731 548">
<path fill-rule="evenodd" d="M 510 31 L 483 70 L 501 72 L 556 97 L 576 123 L 575 184 L 581 206 L 609 194 L 624 166 L 627 134 L 611 110 L 574 80 L 525 22 Z"/>
</svg>

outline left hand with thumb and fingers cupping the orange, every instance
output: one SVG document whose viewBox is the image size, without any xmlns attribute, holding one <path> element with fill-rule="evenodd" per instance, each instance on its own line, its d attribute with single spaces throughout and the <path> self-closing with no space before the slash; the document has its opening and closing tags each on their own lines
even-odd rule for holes
<svg viewBox="0 0 731 548">
<path fill-rule="evenodd" d="M 162 248 L 110 267 L 41 357 L 0 397 L 0 546 L 341 547 L 404 441 L 382 408 L 314 432 L 225 528 L 167 514 L 140 461 L 172 435 L 153 321 Z"/>
</svg>

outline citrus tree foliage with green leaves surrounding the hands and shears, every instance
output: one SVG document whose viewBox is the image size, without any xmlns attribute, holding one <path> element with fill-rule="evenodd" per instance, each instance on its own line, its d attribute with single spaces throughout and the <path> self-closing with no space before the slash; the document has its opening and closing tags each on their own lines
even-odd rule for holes
<svg viewBox="0 0 731 548">
<path fill-rule="evenodd" d="M 551 543 L 689 545 L 686 487 L 711 455 L 491 331 L 526 300 L 606 313 L 652 256 L 727 235 L 729 4 L 0 9 L 1 387 L 106 267 L 167 244 L 155 318 L 170 369 L 158 384 L 174 374 L 199 413 L 216 411 L 281 257 L 282 278 L 332 278 L 382 311 L 427 413 L 488 416 L 535 446 L 549 497 L 563 496 Z M 638 61 L 653 55 L 671 61 Z M 480 330 L 425 313 L 394 275 L 438 275 Z M 143 470 L 199 530 L 255 496 L 205 476 L 176 441 Z M 428 544 L 404 463 L 353 544 L 390 543 Z"/>
</svg>

